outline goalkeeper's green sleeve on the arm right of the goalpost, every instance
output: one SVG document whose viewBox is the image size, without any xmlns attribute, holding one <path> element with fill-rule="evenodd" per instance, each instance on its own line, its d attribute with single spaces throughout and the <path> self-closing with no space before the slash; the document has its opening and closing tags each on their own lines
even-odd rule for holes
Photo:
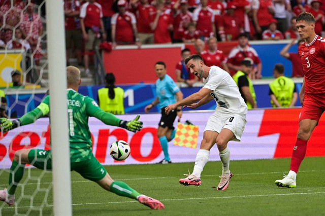
<svg viewBox="0 0 325 216">
<path fill-rule="evenodd" d="M 91 99 L 90 97 L 86 97 L 86 112 L 88 116 L 95 117 L 96 119 L 101 120 L 104 124 L 119 126 L 121 119 L 117 118 L 111 113 L 106 113 L 98 104 Z"/>
</svg>

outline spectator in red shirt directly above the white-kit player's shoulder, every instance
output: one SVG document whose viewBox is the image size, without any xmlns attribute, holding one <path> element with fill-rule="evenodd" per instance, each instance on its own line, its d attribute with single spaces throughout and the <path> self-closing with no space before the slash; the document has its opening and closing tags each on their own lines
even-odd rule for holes
<svg viewBox="0 0 325 216">
<path fill-rule="evenodd" d="M 211 67 L 213 65 L 221 67 L 229 73 L 229 68 L 226 64 L 227 59 L 224 56 L 223 52 L 217 49 L 217 39 L 214 37 L 209 38 L 207 44 L 208 50 L 201 53 L 204 64 L 208 67 Z"/>
</svg>

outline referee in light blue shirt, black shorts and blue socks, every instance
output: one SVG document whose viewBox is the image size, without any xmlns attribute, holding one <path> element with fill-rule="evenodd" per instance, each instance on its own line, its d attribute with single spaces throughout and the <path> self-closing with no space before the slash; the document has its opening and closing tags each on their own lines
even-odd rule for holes
<svg viewBox="0 0 325 216">
<path fill-rule="evenodd" d="M 183 94 L 176 86 L 173 79 L 168 76 L 166 70 L 166 64 L 163 61 L 158 61 L 154 65 L 156 75 L 158 77 L 156 81 L 156 94 L 157 97 L 152 103 L 147 105 L 144 109 L 146 113 L 152 109 L 155 105 L 159 104 L 161 110 L 161 119 L 158 124 L 157 136 L 160 141 L 161 149 L 163 149 L 165 158 L 160 161 L 161 164 L 172 163 L 168 154 L 168 141 L 171 141 L 175 137 L 175 128 L 173 126 L 176 116 L 178 119 L 182 117 L 181 107 L 177 107 L 169 115 L 165 114 L 165 107 L 169 104 L 173 104 L 183 99 Z M 176 97 L 176 98 L 175 98 Z"/>
</svg>

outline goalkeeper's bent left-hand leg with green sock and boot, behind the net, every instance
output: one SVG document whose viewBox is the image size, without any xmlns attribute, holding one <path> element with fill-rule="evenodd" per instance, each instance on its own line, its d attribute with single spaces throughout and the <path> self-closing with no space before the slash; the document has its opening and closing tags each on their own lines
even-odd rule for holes
<svg viewBox="0 0 325 216">
<path fill-rule="evenodd" d="M 21 149 L 15 152 L 10 167 L 8 190 L 0 191 L 0 200 L 6 202 L 9 206 L 15 204 L 16 188 L 24 175 L 25 164 L 29 163 L 29 151 L 30 149 Z"/>
</svg>

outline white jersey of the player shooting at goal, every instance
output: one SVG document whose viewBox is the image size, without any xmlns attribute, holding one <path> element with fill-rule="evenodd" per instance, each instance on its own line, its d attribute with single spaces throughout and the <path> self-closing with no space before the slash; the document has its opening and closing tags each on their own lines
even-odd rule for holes
<svg viewBox="0 0 325 216">
<path fill-rule="evenodd" d="M 247 105 L 235 81 L 225 70 L 211 66 L 209 76 L 207 79 L 203 78 L 203 83 L 203 88 L 213 91 L 211 96 L 217 103 L 216 111 L 222 109 L 233 114 L 247 114 Z"/>
</svg>

